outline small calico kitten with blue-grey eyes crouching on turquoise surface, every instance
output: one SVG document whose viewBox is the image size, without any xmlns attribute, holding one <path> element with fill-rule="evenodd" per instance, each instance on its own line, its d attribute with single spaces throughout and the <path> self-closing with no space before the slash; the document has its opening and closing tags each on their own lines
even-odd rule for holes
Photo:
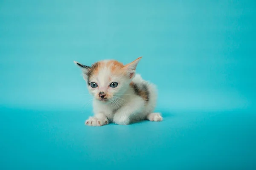
<svg viewBox="0 0 256 170">
<path fill-rule="evenodd" d="M 102 126 L 109 122 L 128 125 L 144 119 L 162 121 L 160 113 L 153 113 L 156 87 L 135 74 L 141 58 L 127 65 L 116 60 L 103 60 L 92 66 L 74 61 L 82 69 L 87 88 L 94 96 L 94 116 L 85 125 Z"/>
</svg>

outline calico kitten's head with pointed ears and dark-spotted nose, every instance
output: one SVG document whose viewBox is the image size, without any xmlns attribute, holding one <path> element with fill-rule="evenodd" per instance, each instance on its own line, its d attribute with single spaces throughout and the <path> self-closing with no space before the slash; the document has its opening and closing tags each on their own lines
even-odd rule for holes
<svg viewBox="0 0 256 170">
<path fill-rule="evenodd" d="M 82 69 L 90 94 L 99 101 L 108 102 L 125 93 L 135 76 L 135 70 L 141 58 L 127 65 L 116 60 L 103 60 L 91 66 L 74 62 Z"/>
</svg>

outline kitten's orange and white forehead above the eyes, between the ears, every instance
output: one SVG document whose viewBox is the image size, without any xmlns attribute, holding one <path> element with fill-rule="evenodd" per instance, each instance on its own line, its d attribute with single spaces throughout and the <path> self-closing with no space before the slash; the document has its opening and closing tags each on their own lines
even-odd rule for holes
<svg viewBox="0 0 256 170">
<path fill-rule="evenodd" d="M 108 82 L 110 81 L 111 76 L 122 74 L 123 67 L 124 65 L 116 60 L 102 60 L 96 62 L 92 65 L 92 69 L 90 70 L 91 74 L 88 79 L 97 77 L 99 82 Z"/>
</svg>

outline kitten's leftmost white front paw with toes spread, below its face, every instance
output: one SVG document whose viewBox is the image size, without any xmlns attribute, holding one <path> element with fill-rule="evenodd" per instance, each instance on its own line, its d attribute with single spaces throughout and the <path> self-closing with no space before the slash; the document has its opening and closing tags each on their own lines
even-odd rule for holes
<svg viewBox="0 0 256 170">
<path fill-rule="evenodd" d="M 88 126 L 103 126 L 108 124 L 108 118 L 103 113 L 97 113 L 94 117 L 89 117 L 84 124 Z"/>
</svg>

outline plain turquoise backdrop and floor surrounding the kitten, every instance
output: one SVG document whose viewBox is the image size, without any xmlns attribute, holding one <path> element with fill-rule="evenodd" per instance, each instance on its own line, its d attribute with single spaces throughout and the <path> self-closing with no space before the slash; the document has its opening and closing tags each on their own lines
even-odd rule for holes
<svg viewBox="0 0 256 170">
<path fill-rule="evenodd" d="M 256 169 L 253 0 L 0 0 L 0 169 Z M 128 63 L 163 122 L 87 127 L 81 70 Z"/>
</svg>

